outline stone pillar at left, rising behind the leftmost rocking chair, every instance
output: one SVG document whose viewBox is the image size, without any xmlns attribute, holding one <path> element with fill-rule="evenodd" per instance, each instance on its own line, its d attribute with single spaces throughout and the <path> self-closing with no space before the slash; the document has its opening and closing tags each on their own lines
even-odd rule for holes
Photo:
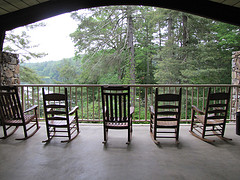
<svg viewBox="0 0 240 180">
<path fill-rule="evenodd" d="M 20 84 L 18 54 L 2 52 L 0 54 L 0 85 Z"/>
</svg>

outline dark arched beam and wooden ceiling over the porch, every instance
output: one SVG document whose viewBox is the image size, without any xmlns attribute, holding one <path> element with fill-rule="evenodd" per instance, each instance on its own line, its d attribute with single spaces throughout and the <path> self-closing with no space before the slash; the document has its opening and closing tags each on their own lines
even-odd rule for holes
<svg viewBox="0 0 240 180">
<path fill-rule="evenodd" d="M 0 31 L 65 12 L 107 5 L 162 7 L 240 26 L 240 0 L 0 0 Z"/>
</svg>

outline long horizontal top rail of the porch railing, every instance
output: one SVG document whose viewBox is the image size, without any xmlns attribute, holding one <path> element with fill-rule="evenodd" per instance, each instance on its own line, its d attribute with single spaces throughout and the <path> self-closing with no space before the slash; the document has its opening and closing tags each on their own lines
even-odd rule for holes
<svg viewBox="0 0 240 180">
<path fill-rule="evenodd" d="M 101 87 L 106 85 L 131 87 L 240 87 L 233 84 L 18 84 L 18 87 Z"/>
</svg>

